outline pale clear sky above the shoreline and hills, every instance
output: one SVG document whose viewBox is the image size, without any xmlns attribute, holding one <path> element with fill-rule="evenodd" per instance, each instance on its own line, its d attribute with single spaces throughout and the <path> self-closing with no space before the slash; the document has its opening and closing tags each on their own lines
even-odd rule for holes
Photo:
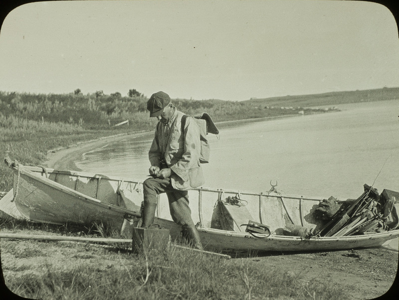
<svg viewBox="0 0 399 300">
<path fill-rule="evenodd" d="M 398 27 L 374 2 L 26 3 L 0 29 L 0 91 L 247 100 L 399 87 Z"/>
</svg>

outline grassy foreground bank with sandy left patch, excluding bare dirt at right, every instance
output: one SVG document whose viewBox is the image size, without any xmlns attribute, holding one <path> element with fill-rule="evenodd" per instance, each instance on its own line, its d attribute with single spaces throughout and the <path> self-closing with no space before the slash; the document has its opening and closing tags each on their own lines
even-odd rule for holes
<svg viewBox="0 0 399 300">
<path fill-rule="evenodd" d="M 345 289 L 309 281 L 299 270 L 259 268 L 257 260 L 225 260 L 185 249 L 133 254 L 82 243 L 5 242 L 5 282 L 33 299 L 85 300 L 340 300 Z"/>
</svg>

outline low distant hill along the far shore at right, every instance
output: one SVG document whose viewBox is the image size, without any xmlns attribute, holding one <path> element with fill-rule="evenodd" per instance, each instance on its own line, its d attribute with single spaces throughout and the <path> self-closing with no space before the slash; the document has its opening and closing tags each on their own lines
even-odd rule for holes
<svg viewBox="0 0 399 300">
<path fill-rule="evenodd" d="M 254 106 L 311 107 L 393 99 L 399 99 L 399 87 L 250 99 L 241 102 Z"/>
</svg>

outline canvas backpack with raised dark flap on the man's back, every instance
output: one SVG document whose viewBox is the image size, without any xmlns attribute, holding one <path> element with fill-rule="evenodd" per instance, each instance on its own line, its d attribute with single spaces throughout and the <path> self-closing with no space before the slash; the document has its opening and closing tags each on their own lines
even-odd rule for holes
<svg viewBox="0 0 399 300">
<path fill-rule="evenodd" d="M 184 132 L 184 127 L 186 126 L 186 119 L 188 115 L 182 116 L 182 132 Z M 194 120 L 200 129 L 200 141 L 201 141 L 201 152 L 200 152 L 200 163 L 206 164 L 209 162 L 209 154 L 210 154 L 210 146 L 208 140 L 206 139 L 206 135 L 208 133 L 219 134 L 219 130 L 216 128 L 216 125 L 213 123 L 212 119 L 207 113 L 202 113 L 199 116 L 194 116 Z"/>
</svg>

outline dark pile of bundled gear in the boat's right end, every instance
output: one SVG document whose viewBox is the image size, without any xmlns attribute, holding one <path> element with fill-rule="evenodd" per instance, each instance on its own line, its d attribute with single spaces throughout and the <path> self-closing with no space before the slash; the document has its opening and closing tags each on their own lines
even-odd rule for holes
<svg viewBox="0 0 399 300">
<path fill-rule="evenodd" d="M 320 237 L 344 237 L 373 234 L 394 230 L 399 220 L 395 208 L 399 193 L 378 190 L 364 185 L 364 193 L 356 200 L 338 202 L 334 197 L 320 202 L 314 216 L 325 221 L 313 235 Z"/>
</svg>

